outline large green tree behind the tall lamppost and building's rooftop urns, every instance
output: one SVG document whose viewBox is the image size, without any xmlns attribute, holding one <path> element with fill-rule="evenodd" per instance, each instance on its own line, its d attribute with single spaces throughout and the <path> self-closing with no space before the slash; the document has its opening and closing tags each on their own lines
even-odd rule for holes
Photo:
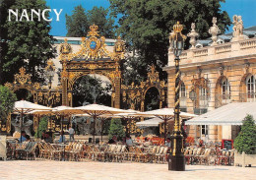
<svg viewBox="0 0 256 180">
<path fill-rule="evenodd" d="M 161 67 L 167 64 L 168 36 L 173 25 L 179 21 L 184 25 L 182 32 L 187 34 L 191 24 L 196 23 L 200 38 L 207 38 L 213 17 L 217 17 L 218 26 L 224 32 L 231 22 L 221 10 L 221 2 L 224 0 L 110 0 L 110 9 L 113 16 L 121 16 L 117 33 L 122 34 L 131 51 L 136 50 L 140 61 L 146 62 L 140 64 L 144 65 L 143 69 L 155 64 L 160 79 L 166 79 Z M 139 67 L 134 64 L 132 68 Z M 139 73 L 146 77 L 145 71 Z"/>
</svg>

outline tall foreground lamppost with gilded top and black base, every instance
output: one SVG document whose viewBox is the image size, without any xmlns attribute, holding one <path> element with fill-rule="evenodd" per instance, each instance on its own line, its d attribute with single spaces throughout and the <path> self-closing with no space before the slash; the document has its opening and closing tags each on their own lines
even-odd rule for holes
<svg viewBox="0 0 256 180">
<path fill-rule="evenodd" d="M 183 153 L 183 136 L 181 133 L 181 120 L 179 110 L 179 90 L 180 90 L 180 70 L 179 70 L 179 56 L 184 47 L 184 40 L 186 36 L 181 33 L 183 26 L 177 22 L 173 26 L 173 31 L 170 33 L 170 45 L 175 55 L 175 98 L 174 98 L 174 131 L 171 137 L 171 153 L 168 162 L 168 170 L 184 171 L 185 157 Z"/>
</svg>

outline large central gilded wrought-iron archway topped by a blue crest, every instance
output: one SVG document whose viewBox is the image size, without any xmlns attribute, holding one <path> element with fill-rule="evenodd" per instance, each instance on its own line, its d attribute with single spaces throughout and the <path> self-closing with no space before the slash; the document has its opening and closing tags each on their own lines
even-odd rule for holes
<svg viewBox="0 0 256 180">
<path fill-rule="evenodd" d="M 82 38 L 81 49 L 77 53 L 72 53 L 67 39 L 60 46 L 63 105 L 72 106 L 72 89 L 80 77 L 99 74 L 107 77 L 112 84 L 112 106 L 120 107 L 120 61 L 124 58 L 124 41 L 118 37 L 113 52 L 109 52 L 105 47 L 105 37 L 100 37 L 97 29 L 96 25 L 90 27 L 87 38 Z"/>
</svg>

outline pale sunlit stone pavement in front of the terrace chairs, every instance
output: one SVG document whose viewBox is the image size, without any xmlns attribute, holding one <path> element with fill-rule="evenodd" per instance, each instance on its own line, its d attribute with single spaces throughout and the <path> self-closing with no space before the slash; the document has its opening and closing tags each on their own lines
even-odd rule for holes
<svg viewBox="0 0 256 180">
<path fill-rule="evenodd" d="M 208 180 L 208 179 L 255 179 L 256 167 L 187 165 L 186 171 L 168 171 L 167 164 L 72 162 L 72 161 L 0 161 L 1 180 L 41 179 L 121 179 L 121 180 Z"/>
</svg>

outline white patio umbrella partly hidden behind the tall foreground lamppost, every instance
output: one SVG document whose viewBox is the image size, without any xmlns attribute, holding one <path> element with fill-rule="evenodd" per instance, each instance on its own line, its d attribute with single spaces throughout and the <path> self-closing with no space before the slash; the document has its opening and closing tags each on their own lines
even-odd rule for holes
<svg viewBox="0 0 256 180">
<path fill-rule="evenodd" d="M 141 115 L 143 117 L 149 117 L 151 115 L 154 115 L 154 116 L 159 117 L 160 119 L 162 119 L 164 121 L 164 142 L 165 142 L 165 139 L 166 139 L 166 122 L 170 119 L 173 119 L 174 109 L 173 108 L 161 108 L 161 109 L 157 109 L 157 110 L 141 112 L 141 113 L 138 113 L 138 115 Z M 180 115 L 180 117 L 183 117 L 183 118 L 192 118 L 192 117 L 197 116 L 195 114 L 190 114 L 190 113 L 187 113 L 187 112 L 180 112 L 179 115 Z"/>
</svg>

